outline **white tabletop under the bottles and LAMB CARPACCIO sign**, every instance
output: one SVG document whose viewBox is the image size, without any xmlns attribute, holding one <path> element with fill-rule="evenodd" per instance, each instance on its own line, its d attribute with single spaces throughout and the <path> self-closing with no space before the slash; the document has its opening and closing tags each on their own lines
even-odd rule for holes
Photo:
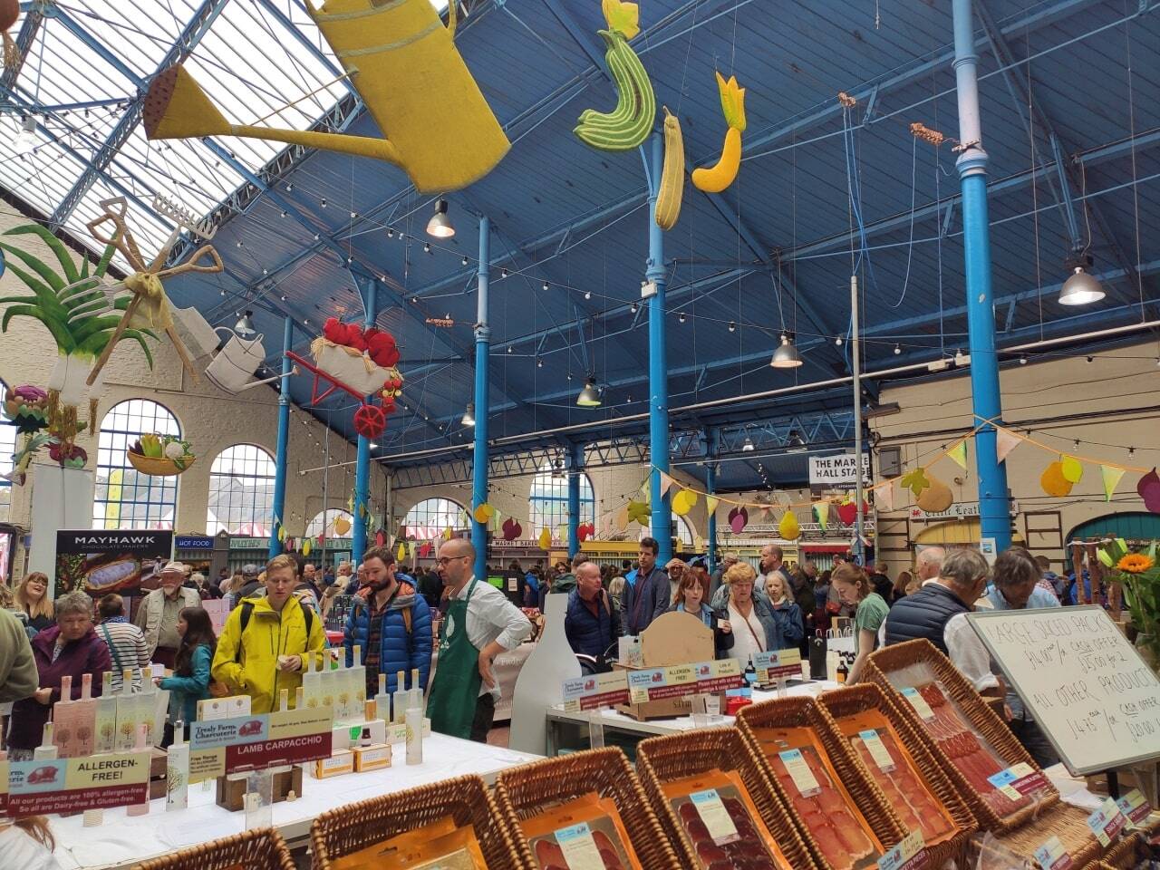
<svg viewBox="0 0 1160 870">
<path fill-rule="evenodd" d="M 316 817 L 345 804 L 403 791 L 466 774 L 478 774 L 488 784 L 501 770 L 536 755 L 498 746 L 473 744 L 443 734 L 423 740 L 423 763 L 407 767 L 403 745 L 396 746 L 394 763 L 383 770 L 348 774 L 329 780 L 303 777 L 304 795 L 274 805 L 274 826 L 291 848 L 303 844 Z M 126 815 L 123 807 L 104 811 L 101 827 L 82 827 L 84 817 L 52 817 L 56 857 L 64 870 L 121 870 L 136 862 L 238 834 L 245 813 L 229 812 L 213 803 L 213 783 L 189 786 L 189 806 L 165 811 L 165 798 L 152 802 L 147 815 Z"/>
</svg>

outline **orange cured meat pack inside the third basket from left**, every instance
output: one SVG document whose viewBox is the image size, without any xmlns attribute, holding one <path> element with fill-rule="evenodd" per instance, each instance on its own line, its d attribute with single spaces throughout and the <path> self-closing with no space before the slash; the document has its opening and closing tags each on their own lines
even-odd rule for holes
<svg viewBox="0 0 1160 870">
<path fill-rule="evenodd" d="M 611 798 L 595 791 L 520 822 L 538 870 L 641 870 Z"/>
</svg>

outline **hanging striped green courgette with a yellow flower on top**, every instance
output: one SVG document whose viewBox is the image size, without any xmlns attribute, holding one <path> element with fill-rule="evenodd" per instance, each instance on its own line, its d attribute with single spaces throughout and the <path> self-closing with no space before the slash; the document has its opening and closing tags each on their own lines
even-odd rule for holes
<svg viewBox="0 0 1160 870">
<path fill-rule="evenodd" d="M 573 132 L 599 151 L 631 151 L 652 131 L 657 97 L 640 58 L 629 48 L 629 39 L 640 32 L 640 10 L 636 3 L 603 0 L 607 30 L 599 30 L 608 46 L 604 61 L 616 82 L 617 103 L 610 113 L 586 109 Z"/>
</svg>

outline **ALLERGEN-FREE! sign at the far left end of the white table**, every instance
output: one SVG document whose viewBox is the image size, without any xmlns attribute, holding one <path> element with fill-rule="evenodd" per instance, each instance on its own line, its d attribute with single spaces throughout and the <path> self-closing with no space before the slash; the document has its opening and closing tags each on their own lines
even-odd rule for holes
<svg viewBox="0 0 1160 870">
<path fill-rule="evenodd" d="M 78 813 L 148 799 L 151 753 L 8 763 L 9 815 Z"/>
</svg>

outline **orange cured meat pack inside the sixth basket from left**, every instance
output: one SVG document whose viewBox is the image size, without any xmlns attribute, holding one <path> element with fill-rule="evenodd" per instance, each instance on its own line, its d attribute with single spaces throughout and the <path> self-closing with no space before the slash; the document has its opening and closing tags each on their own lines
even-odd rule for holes
<svg viewBox="0 0 1160 870">
<path fill-rule="evenodd" d="M 885 716 L 876 710 L 865 710 L 839 719 L 838 727 L 907 831 L 921 831 L 927 846 L 954 836 L 957 829 L 954 818 L 927 785 Z"/>
</svg>

